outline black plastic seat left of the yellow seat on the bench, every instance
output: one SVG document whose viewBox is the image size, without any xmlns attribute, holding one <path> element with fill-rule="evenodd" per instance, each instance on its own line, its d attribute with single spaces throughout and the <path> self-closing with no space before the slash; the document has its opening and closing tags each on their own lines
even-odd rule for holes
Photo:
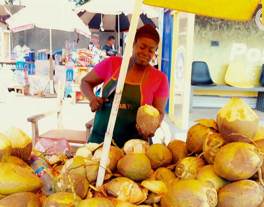
<svg viewBox="0 0 264 207">
<path fill-rule="evenodd" d="M 211 79 L 210 71 L 205 62 L 192 63 L 191 84 L 197 86 L 216 86 Z"/>
</svg>

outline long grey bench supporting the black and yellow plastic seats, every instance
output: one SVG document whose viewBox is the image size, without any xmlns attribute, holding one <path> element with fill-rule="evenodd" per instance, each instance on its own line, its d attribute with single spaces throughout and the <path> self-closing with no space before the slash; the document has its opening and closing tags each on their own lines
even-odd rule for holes
<svg viewBox="0 0 264 207">
<path fill-rule="evenodd" d="M 254 85 L 254 88 L 236 88 L 226 84 L 219 84 L 216 86 L 195 86 L 191 85 L 190 91 L 190 109 L 192 111 L 192 102 L 194 96 L 194 90 L 204 90 L 204 91 L 255 91 L 258 92 L 256 109 L 264 112 L 264 86 Z"/>
</svg>

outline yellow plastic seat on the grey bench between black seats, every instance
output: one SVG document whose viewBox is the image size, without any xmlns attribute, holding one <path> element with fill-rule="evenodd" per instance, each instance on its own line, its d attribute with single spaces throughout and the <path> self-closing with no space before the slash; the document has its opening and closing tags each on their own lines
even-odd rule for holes
<svg viewBox="0 0 264 207">
<path fill-rule="evenodd" d="M 230 62 L 225 73 L 225 82 L 237 88 L 254 88 L 246 79 L 246 71 L 242 62 Z"/>
</svg>

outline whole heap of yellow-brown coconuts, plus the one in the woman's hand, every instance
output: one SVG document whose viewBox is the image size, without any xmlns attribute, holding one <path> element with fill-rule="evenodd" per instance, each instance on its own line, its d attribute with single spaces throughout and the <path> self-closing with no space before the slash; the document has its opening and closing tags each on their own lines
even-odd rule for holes
<svg viewBox="0 0 264 207">
<path fill-rule="evenodd" d="M 138 125 L 146 118 L 154 123 L 149 124 L 153 131 L 157 109 L 147 105 L 140 110 Z M 264 206 L 264 128 L 258 126 L 257 114 L 242 99 L 232 98 L 216 121 L 196 122 L 186 142 L 149 146 L 133 139 L 122 149 L 111 146 L 99 189 L 95 184 L 102 145 L 85 144 L 72 159 L 59 152 L 45 157 L 13 127 L 0 134 L 0 206 Z M 27 164 L 30 153 L 48 163 L 47 172 L 54 178 L 51 196 L 41 194 L 43 183 Z"/>
</svg>

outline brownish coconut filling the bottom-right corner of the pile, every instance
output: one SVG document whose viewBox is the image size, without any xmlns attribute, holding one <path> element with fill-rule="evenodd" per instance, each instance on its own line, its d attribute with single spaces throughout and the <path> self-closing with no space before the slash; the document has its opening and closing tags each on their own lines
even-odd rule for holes
<svg viewBox="0 0 264 207">
<path fill-rule="evenodd" d="M 220 190 L 217 207 L 259 207 L 263 198 L 264 189 L 259 183 L 252 180 L 241 180 Z"/>
</svg>

